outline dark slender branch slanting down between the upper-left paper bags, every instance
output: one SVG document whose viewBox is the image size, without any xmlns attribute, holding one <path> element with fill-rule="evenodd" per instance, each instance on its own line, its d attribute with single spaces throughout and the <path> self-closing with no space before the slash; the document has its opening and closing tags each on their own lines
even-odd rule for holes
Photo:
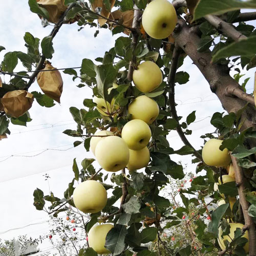
<svg viewBox="0 0 256 256">
<path fill-rule="evenodd" d="M 59 29 L 61 28 L 62 24 L 63 24 L 63 20 L 65 19 L 67 13 L 69 12 L 70 9 L 72 9 L 74 6 L 76 5 L 76 3 L 72 3 L 67 10 L 61 15 L 61 17 L 59 18 L 58 23 L 54 26 L 53 30 L 51 31 L 51 33 L 49 34 L 49 36 L 52 37 L 52 39 L 54 38 L 54 36 L 58 33 Z M 29 77 L 29 82 L 27 84 L 26 90 L 28 90 L 31 86 L 31 84 L 34 82 L 34 79 L 36 78 L 38 71 L 41 70 L 44 67 L 44 63 L 45 63 L 46 57 L 44 55 L 41 56 L 33 74 Z"/>
</svg>

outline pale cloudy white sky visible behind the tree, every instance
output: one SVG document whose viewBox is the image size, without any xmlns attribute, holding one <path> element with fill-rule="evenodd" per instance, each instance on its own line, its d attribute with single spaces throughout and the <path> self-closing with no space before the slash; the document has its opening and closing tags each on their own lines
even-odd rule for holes
<svg viewBox="0 0 256 256">
<path fill-rule="evenodd" d="M 6 48 L 0 53 L 0 60 L 9 51 L 26 52 L 23 39 L 25 32 L 42 39 L 52 29 L 50 26 L 41 27 L 40 19 L 30 12 L 27 1 L 3 1 L 0 17 L 0 45 Z M 79 67 L 83 58 L 101 57 L 114 46 L 115 39 L 109 30 L 100 30 L 95 39 L 95 29 L 82 29 L 78 32 L 78 28 L 76 24 L 64 25 L 54 38 L 55 53 L 51 60 L 54 67 Z M 19 68 L 15 71 L 19 71 Z M 179 104 L 177 111 L 179 116 L 186 117 L 196 110 L 197 120 L 190 125 L 194 132 L 188 136 L 188 140 L 196 148 L 200 148 L 203 145 L 200 135 L 215 130 L 210 125 L 210 117 L 217 111 L 222 112 L 223 109 L 217 96 L 211 93 L 208 83 L 191 60 L 186 58 L 181 70 L 188 72 L 190 78 L 188 83 L 176 87 L 176 102 Z M 252 78 L 254 71 L 247 72 L 242 81 L 247 77 Z M 34 101 L 29 111 L 32 122 L 28 123 L 27 127 L 10 125 L 11 136 L 0 141 L 0 239 L 12 239 L 19 234 L 27 234 L 33 238 L 49 234 L 48 224 L 44 222 L 49 219 L 47 214 L 37 211 L 33 206 L 34 189 L 38 187 L 48 194 L 48 184 L 42 176 L 47 173 L 51 177 L 51 190 L 55 196 L 62 198 L 63 191 L 73 179 L 73 159 L 77 158 L 77 162 L 80 163 L 83 158 L 93 157 L 82 145 L 72 148 L 76 139 L 62 134 L 66 129 L 76 128 L 69 113 L 70 106 L 83 108 L 83 99 L 92 98 L 92 91 L 87 87 L 77 88 L 78 79 L 73 82 L 71 76 L 62 72 L 61 74 L 64 81 L 61 104 L 56 103 L 53 108 L 47 109 Z M 4 80 L 3 75 L 1 78 Z M 251 93 L 253 79 L 249 80 L 247 88 Z M 35 90 L 40 92 L 36 82 L 30 88 L 30 92 Z M 170 146 L 175 149 L 183 146 L 175 131 L 169 134 L 168 139 Z M 36 156 L 47 148 L 53 150 Z M 18 156 L 8 158 L 11 155 Z M 188 171 L 194 172 L 195 165 L 190 164 L 189 157 L 173 156 L 172 159 L 188 163 Z M 22 228 L 38 222 L 44 223 Z M 9 229 L 15 230 L 7 231 Z M 48 246 L 49 244 L 45 243 L 40 248 L 43 250 Z"/>
</svg>

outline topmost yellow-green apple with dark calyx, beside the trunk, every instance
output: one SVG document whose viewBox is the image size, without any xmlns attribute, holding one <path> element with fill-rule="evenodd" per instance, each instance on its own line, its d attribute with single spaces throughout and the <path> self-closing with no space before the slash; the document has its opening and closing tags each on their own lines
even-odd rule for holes
<svg viewBox="0 0 256 256">
<path fill-rule="evenodd" d="M 177 24 L 175 8 L 167 0 L 154 0 L 142 14 L 142 26 L 153 38 L 163 39 L 173 33 Z"/>
</svg>

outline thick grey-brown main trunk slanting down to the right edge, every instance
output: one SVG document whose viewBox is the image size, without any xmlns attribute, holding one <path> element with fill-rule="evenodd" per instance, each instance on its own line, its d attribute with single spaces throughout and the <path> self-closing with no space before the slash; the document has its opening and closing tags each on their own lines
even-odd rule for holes
<svg viewBox="0 0 256 256">
<path fill-rule="evenodd" d="M 225 95 L 226 88 L 236 89 L 241 88 L 239 83 L 229 75 L 229 70 L 226 65 L 211 62 L 210 50 L 198 52 L 197 48 L 201 38 L 190 29 L 185 20 L 179 18 L 179 31 L 175 31 L 173 36 L 176 44 L 193 60 L 194 64 L 199 68 L 202 75 L 210 84 L 210 89 L 220 99 L 223 108 L 228 112 L 237 113 L 245 106 L 245 101 L 240 98 L 231 98 Z M 251 105 L 248 105 L 243 112 L 241 119 L 244 120 L 242 130 L 253 126 L 256 129 L 255 122 L 256 111 Z M 256 146 L 255 140 L 250 140 L 250 146 Z"/>
</svg>

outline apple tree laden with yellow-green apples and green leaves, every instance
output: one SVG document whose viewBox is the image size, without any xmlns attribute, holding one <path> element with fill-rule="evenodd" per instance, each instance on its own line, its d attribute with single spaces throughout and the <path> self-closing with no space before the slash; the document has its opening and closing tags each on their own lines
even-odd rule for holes
<svg viewBox="0 0 256 256">
<path fill-rule="evenodd" d="M 91 247 L 84 243 L 79 255 L 98 252 L 138 256 L 255 256 L 256 88 L 253 98 L 246 92 L 246 81 L 239 84 L 241 72 L 256 66 L 256 30 L 246 23 L 254 20 L 256 14 L 241 12 L 255 9 L 255 1 L 175 0 L 170 5 L 166 0 L 29 0 L 29 6 L 44 26 L 53 23 L 54 28 L 41 41 L 27 32 L 24 39 L 28 52 L 8 52 L 4 56 L 1 73 L 11 79 L 0 86 L 1 136 L 10 134 L 9 121 L 14 124 L 30 121 L 27 110 L 33 98 L 47 107 L 54 104 L 53 100 L 59 101 L 61 77 L 49 60 L 54 59 L 54 37 L 59 29 L 68 26 L 63 24 L 76 22 L 79 31 L 85 26 L 97 27 L 95 37 L 102 29 L 120 35 L 104 56 L 95 60 L 84 58 L 79 73 L 74 69 L 63 72 L 73 80 L 79 79 L 79 87 L 92 88 L 92 97 L 83 101 L 84 109 L 70 108 L 77 130 L 64 133 L 77 139 L 74 146 L 84 146 L 86 151 L 90 150 L 90 144 L 95 147 L 96 160 L 86 158 L 80 165 L 74 159 L 74 179 L 62 199 L 53 193 L 44 195 L 37 188 L 36 209 L 54 217 L 73 209 L 80 213 L 81 220 L 89 218 L 83 222 L 83 229 Z M 163 16 L 166 16 L 164 21 Z M 30 76 L 25 71 L 14 73 L 18 59 L 28 71 L 33 70 Z M 188 59 L 198 67 L 225 110 L 212 113 L 211 124 L 216 132 L 201 136 L 209 142 L 208 150 L 206 147 L 196 150 L 187 139 L 193 132 L 189 124 L 196 119 L 195 111 L 188 114 L 185 122 L 180 121 L 176 111 L 175 87 L 189 78 L 185 71 L 177 69 L 182 69 Z M 150 63 L 150 68 L 144 63 Z M 234 77 L 230 75 L 231 69 L 237 72 Z M 28 92 L 36 77 L 44 94 Z M 133 108 L 134 105 L 137 107 Z M 148 109 L 141 112 L 145 105 Z M 157 116 L 153 115 L 156 109 Z M 184 143 L 177 151 L 166 139 L 172 130 L 177 131 Z M 97 135 L 99 131 L 103 134 Z M 138 140 L 138 134 L 144 137 Z M 150 155 L 138 153 L 143 149 L 138 145 L 142 144 Z M 198 173 L 190 187 L 181 186 L 180 202 L 175 207 L 161 193 L 163 187 L 173 180 L 179 183 L 185 176 L 184 166 L 172 160 L 174 154 L 190 155 L 191 161 L 197 163 Z M 146 158 L 148 161 L 141 164 Z M 97 169 L 98 164 L 102 168 Z M 136 172 L 141 167 L 145 167 L 144 171 Z M 88 181 L 97 181 L 108 190 L 104 207 L 98 211 L 94 206 L 82 208 L 76 203 L 75 189 L 89 184 Z M 93 186 L 89 188 L 93 190 Z M 86 206 L 102 199 L 96 193 L 90 195 L 87 191 L 86 195 L 93 197 L 90 200 L 79 197 L 81 201 L 87 200 Z M 211 201 L 206 203 L 205 198 Z M 218 207 L 209 207 L 217 203 Z M 198 207 L 196 216 L 207 214 L 207 221 L 191 217 L 182 222 L 191 214 L 192 205 Z M 168 241 L 161 239 L 164 222 L 169 227 L 183 223 L 191 231 L 193 243 L 180 243 L 180 247 L 170 250 Z M 106 228 L 107 224 L 113 225 L 112 228 Z M 98 227 L 101 230 L 97 233 Z M 93 233 L 91 239 L 90 233 Z M 103 238 L 95 245 L 100 233 Z M 156 237 L 158 250 L 154 251 L 147 243 Z M 99 243 L 103 243 L 100 249 Z"/>
</svg>

